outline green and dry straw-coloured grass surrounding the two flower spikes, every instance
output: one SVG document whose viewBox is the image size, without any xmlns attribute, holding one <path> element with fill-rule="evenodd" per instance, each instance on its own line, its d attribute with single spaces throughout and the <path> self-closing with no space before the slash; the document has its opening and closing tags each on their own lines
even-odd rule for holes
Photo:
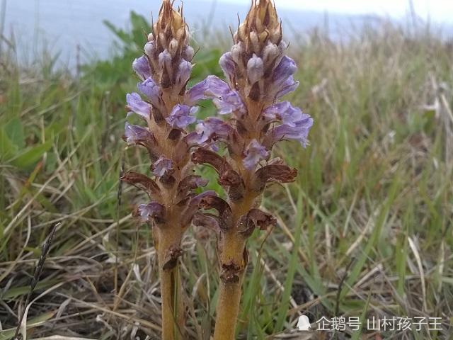
<svg viewBox="0 0 453 340">
<path fill-rule="evenodd" d="M 117 56 L 85 66 L 81 77 L 55 69 L 52 59 L 19 66 L 12 47 L 2 52 L 2 340 L 12 339 L 25 307 L 27 339 L 159 339 L 153 242 L 130 216 L 144 198 L 123 187 L 117 204 L 122 162 L 147 167 L 144 154 L 125 150 L 120 138 L 125 94 L 136 83 L 130 63 L 144 40 L 144 21 L 132 22 L 132 33 L 116 32 L 126 42 Z M 227 48 L 201 47 L 194 81 L 219 74 Z M 288 142 L 275 152 L 300 175 L 271 187 L 263 201 L 278 225 L 249 242 L 239 338 L 301 339 L 294 329 L 306 314 L 311 322 L 362 317 L 361 331 L 314 332 L 311 339 L 448 339 L 452 43 L 382 23 L 345 42 L 315 31 L 292 41 L 289 53 L 301 81 L 291 99 L 315 126 L 306 150 Z M 211 113 L 207 104 L 202 114 Z M 24 306 L 40 245 L 57 222 Z M 213 235 L 193 229 L 183 247 L 188 334 L 210 339 L 219 282 Z M 373 315 L 442 317 L 443 330 L 368 331 Z"/>
</svg>

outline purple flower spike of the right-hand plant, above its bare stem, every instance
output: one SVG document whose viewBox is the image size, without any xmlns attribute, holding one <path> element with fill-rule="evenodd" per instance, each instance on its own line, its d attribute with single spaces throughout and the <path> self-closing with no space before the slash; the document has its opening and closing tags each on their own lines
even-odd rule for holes
<svg viewBox="0 0 453 340">
<path fill-rule="evenodd" d="M 229 119 L 208 118 L 197 125 L 197 131 L 205 142 L 223 142 L 228 156 L 200 147 L 192 157 L 195 164 L 210 164 L 229 194 L 228 202 L 205 198 L 203 207 L 215 208 L 219 215 L 202 216 L 199 212 L 194 220 L 216 229 L 221 241 L 224 234 L 247 237 L 253 228 L 263 229 L 274 222 L 258 210 L 260 196 L 267 183 L 294 181 L 297 170 L 281 159 L 270 159 L 271 149 L 281 140 L 297 140 L 306 147 L 313 125 L 310 115 L 289 101 L 280 101 L 299 82 L 294 81 L 297 66 L 285 55 L 281 23 L 270 1 L 253 1 L 234 42 L 219 61 L 226 81 L 210 76 L 198 84 L 203 89 L 202 98 L 212 98 L 219 115 L 229 115 Z M 222 248 L 222 242 L 219 244 Z M 228 263 L 223 264 L 229 271 Z M 239 272 L 243 269 L 243 265 L 237 267 Z M 231 278 L 237 280 L 239 274 Z"/>
</svg>

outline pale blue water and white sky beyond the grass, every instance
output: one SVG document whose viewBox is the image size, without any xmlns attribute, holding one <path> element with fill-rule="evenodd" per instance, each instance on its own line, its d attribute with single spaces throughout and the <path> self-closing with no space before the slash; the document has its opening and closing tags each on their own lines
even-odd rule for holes
<svg viewBox="0 0 453 340">
<path fill-rule="evenodd" d="M 141 13 L 151 20 L 151 13 L 159 13 L 157 0 L 1 0 L 2 25 L 6 37 L 15 35 L 20 55 L 33 60 L 42 48 L 60 53 L 62 62 L 74 66 L 77 50 L 86 58 L 105 59 L 111 51 L 114 35 L 103 21 L 110 21 L 119 28 L 130 27 L 129 13 Z M 185 17 L 197 38 L 207 43 L 203 30 L 228 31 L 236 27 L 239 18 L 245 18 L 248 0 L 188 0 L 185 1 Z M 182 3 L 180 3 L 182 4 Z M 176 6 L 179 6 L 176 2 Z M 287 34 L 300 34 L 314 28 L 323 28 L 336 39 L 346 38 L 353 27 L 376 25 L 382 20 L 406 24 L 427 23 L 443 31 L 444 36 L 453 33 L 453 4 L 445 0 L 395 0 L 395 1 L 290 1 L 276 0 L 280 18 Z M 225 13 L 230 13 L 226 16 Z M 200 34 L 198 37 L 197 33 Z M 208 42 L 209 43 L 209 42 Z"/>
</svg>

